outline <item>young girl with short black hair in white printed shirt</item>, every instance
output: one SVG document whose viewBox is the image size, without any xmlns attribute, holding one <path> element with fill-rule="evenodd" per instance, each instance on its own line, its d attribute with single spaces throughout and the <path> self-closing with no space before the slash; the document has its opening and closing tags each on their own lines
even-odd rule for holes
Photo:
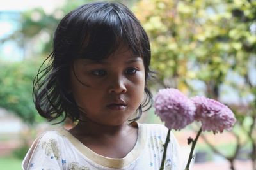
<svg viewBox="0 0 256 170">
<path fill-rule="evenodd" d="M 159 169 L 167 129 L 136 122 L 152 103 L 148 36 L 120 3 L 85 4 L 54 34 L 51 64 L 38 71 L 33 96 L 48 120 L 77 125 L 39 136 L 23 169 Z M 180 169 L 170 138 L 165 168 Z"/>
</svg>

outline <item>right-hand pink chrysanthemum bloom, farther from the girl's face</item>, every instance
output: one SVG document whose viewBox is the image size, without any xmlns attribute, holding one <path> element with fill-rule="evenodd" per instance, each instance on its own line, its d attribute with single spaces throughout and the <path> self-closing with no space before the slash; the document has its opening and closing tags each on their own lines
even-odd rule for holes
<svg viewBox="0 0 256 170">
<path fill-rule="evenodd" d="M 225 104 L 203 96 L 193 97 L 192 101 L 196 106 L 195 120 L 202 122 L 203 131 L 223 132 L 234 126 L 234 113 Z"/>
</svg>

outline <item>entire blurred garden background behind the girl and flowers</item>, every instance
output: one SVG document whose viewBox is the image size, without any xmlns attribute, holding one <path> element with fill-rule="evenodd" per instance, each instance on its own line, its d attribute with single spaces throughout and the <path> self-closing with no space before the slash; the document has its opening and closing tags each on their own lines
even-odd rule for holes
<svg viewBox="0 0 256 170">
<path fill-rule="evenodd" d="M 21 169 L 33 139 L 52 126 L 40 118 L 32 82 L 51 53 L 60 19 L 82 0 L 0 1 L 0 169 Z M 256 1 L 120 1 L 136 14 L 152 46 L 153 94 L 173 87 L 188 96 L 206 96 L 236 114 L 233 131 L 204 132 L 191 169 L 256 169 Z M 140 122 L 162 124 L 154 110 Z M 72 124 L 65 122 L 70 128 Z M 187 157 L 193 123 L 174 132 Z"/>
</svg>

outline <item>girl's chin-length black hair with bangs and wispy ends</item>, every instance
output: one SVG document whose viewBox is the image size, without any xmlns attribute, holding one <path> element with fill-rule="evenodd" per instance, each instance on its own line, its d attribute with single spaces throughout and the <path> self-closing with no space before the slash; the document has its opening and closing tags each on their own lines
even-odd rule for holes
<svg viewBox="0 0 256 170">
<path fill-rule="evenodd" d="M 49 121 L 67 117 L 79 120 L 81 110 L 70 92 L 70 68 L 75 59 L 106 59 L 126 45 L 143 58 L 145 66 L 145 100 L 137 110 L 138 120 L 152 106 L 147 81 L 152 73 L 150 43 L 147 33 L 134 14 L 123 4 L 89 3 L 68 13 L 54 33 L 52 53 L 40 66 L 33 81 L 33 101 L 38 113 Z M 144 110 L 143 110 L 144 109 Z M 59 122 L 59 123 L 60 123 Z"/>
</svg>

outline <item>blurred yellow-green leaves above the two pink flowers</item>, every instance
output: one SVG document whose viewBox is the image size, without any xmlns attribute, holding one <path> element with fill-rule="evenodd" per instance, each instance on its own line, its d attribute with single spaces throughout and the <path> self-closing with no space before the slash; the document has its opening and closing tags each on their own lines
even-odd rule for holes
<svg viewBox="0 0 256 170">
<path fill-rule="evenodd" d="M 247 76 L 256 52 L 256 32 L 250 31 L 255 1 L 150 0 L 134 11 L 150 35 L 152 68 L 164 85 L 194 90 L 188 82 L 201 80 L 206 94 L 217 98 L 228 71 Z"/>
</svg>

